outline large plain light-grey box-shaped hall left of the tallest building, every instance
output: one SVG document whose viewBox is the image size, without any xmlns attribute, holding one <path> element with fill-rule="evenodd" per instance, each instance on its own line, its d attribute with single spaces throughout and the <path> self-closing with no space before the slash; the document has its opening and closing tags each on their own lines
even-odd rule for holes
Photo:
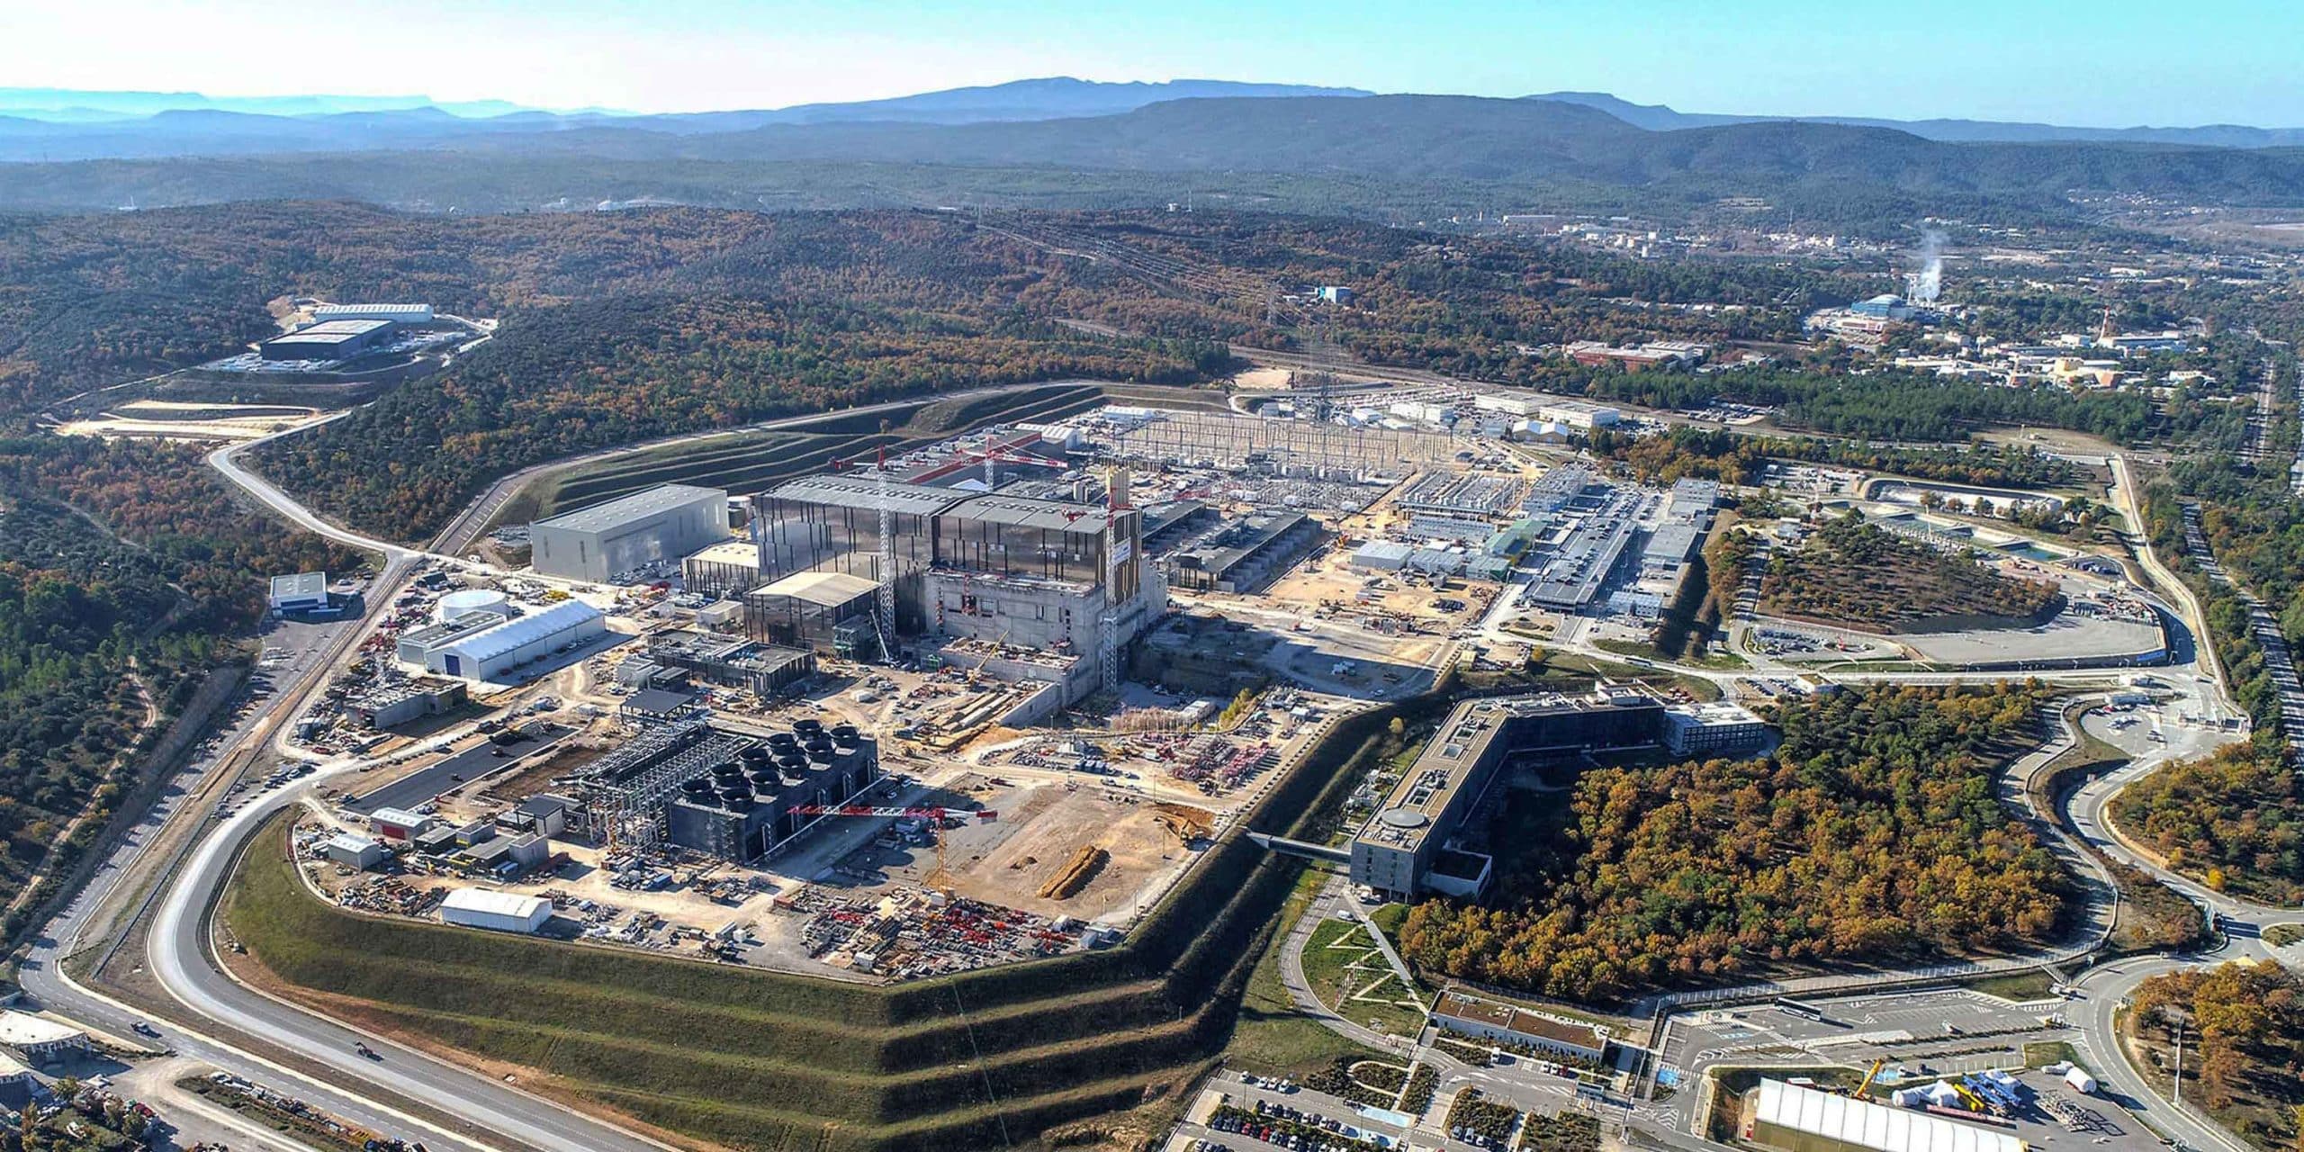
<svg viewBox="0 0 2304 1152">
<path fill-rule="evenodd" d="M 528 525 L 530 564 L 569 581 L 608 583 L 721 539 L 728 539 L 728 493 L 694 484 L 659 484 Z"/>
</svg>

